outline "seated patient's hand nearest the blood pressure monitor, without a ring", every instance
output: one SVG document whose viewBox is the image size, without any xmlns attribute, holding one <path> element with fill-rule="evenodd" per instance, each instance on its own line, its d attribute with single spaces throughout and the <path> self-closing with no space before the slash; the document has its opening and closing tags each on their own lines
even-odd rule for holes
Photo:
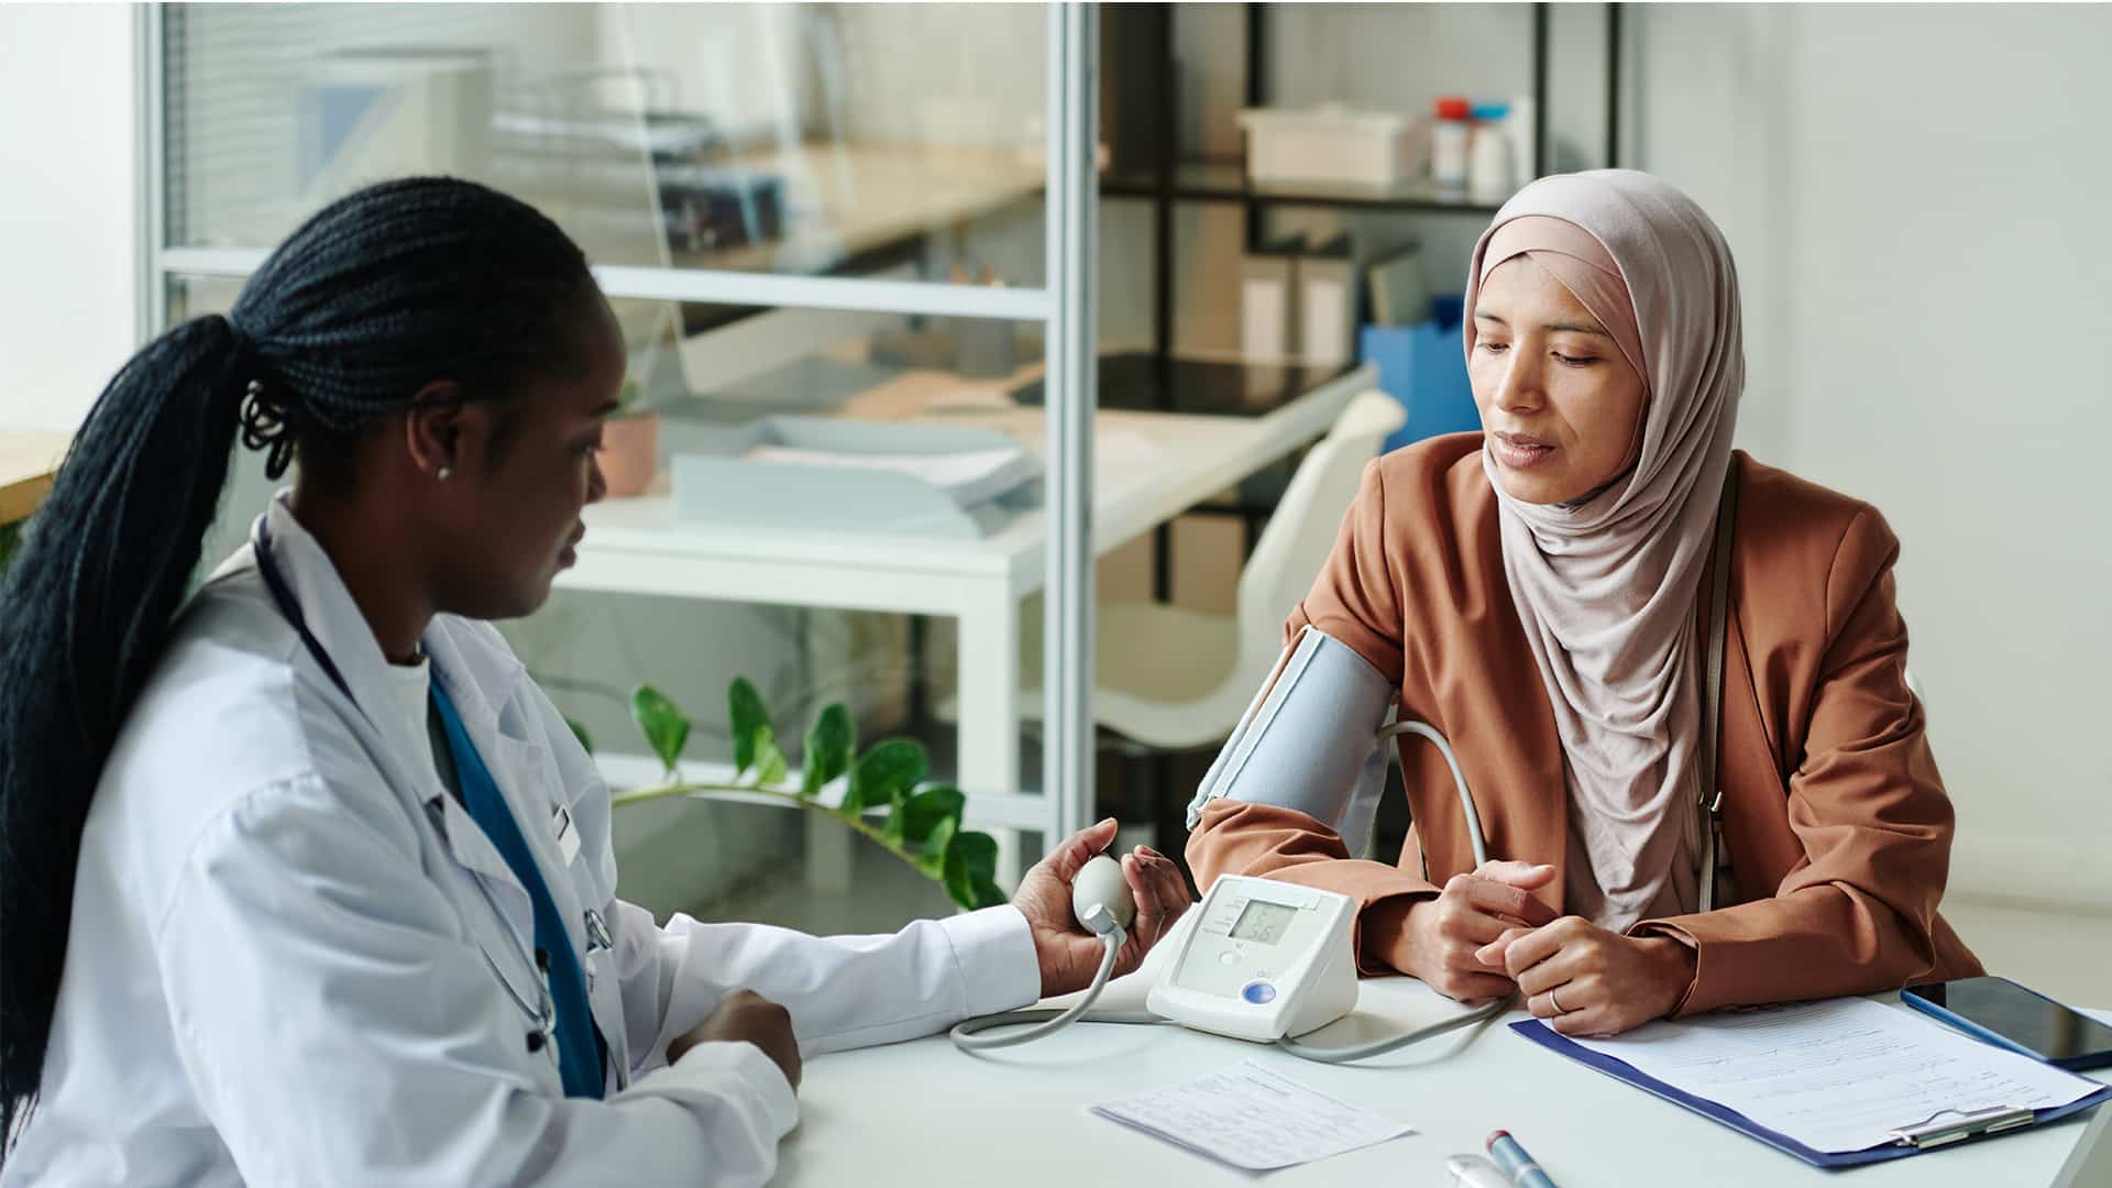
<svg viewBox="0 0 2112 1188">
<path fill-rule="evenodd" d="M 1554 867 L 1531 862 L 1483 862 L 1453 875 L 1436 898 L 1409 907 L 1396 968 L 1459 1002 L 1510 994 L 1504 958 L 1487 958 L 1483 947 L 1506 930 L 1552 922 L 1554 909 L 1531 896 L 1552 879 Z"/>
</svg>

